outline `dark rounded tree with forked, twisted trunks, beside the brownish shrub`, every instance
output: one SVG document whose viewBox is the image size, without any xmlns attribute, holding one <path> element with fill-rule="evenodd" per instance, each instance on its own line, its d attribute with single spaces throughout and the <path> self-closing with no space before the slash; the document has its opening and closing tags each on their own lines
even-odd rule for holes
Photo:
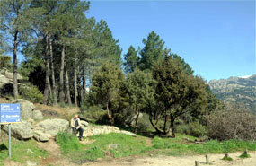
<svg viewBox="0 0 256 166">
<path fill-rule="evenodd" d="M 163 134 L 174 135 L 174 121 L 184 113 L 200 113 L 207 106 L 207 92 L 204 81 L 192 74 L 186 74 L 181 62 L 172 57 L 165 57 L 163 64 L 156 64 L 153 77 L 157 81 L 155 100 L 158 108 L 158 118 L 163 117 L 163 131 L 161 131 L 151 118 L 154 128 Z M 150 116 L 154 116 L 149 112 Z M 159 119 L 156 120 L 156 122 Z M 167 122 L 170 120 L 170 126 Z"/>
</svg>

